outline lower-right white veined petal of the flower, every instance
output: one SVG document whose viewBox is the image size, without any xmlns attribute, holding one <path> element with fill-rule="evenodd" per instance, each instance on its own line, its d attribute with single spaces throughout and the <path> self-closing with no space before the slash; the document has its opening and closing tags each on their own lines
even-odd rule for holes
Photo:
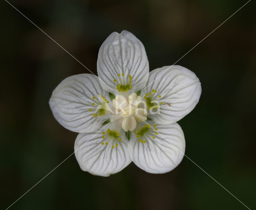
<svg viewBox="0 0 256 210">
<path fill-rule="evenodd" d="M 152 121 L 146 121 L 152 125 Z M 185 139 L 177 123 L 156 125 L 158 135 L 149 134 L 137 138 L 132 132 L 128 151 L 132 161 L 141 169 L 150 173 L 166 173 L 173 170 L 182 160 L 185 153 Z M 152 132 L 154 129 L 150 128 Z M 155 136 L 155 139 L 152 136 Z M 138 139 L 145 140 L 141 143 Z"/>
</svg>

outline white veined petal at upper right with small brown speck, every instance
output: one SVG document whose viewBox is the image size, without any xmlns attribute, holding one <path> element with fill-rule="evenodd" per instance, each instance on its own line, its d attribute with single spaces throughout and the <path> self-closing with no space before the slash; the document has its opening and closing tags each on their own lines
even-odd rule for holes
<svg viewBox="0 0 256 210">
<path fill-rule="evenodd" d="M 160 105 L 160 113 L 148 112 L 148 117 L 160 124 L 174 123 L 190 113 L 198 103 L 202 91 L 201 83 L 192 71 L 179 65 L 168 68 L 164 66 L 151 71 L 147 83 L 149 86 L 141 91 L 142 96 L 152 89 L 157 91 L 154 97 L 163 105 Z"/>
</svg>

